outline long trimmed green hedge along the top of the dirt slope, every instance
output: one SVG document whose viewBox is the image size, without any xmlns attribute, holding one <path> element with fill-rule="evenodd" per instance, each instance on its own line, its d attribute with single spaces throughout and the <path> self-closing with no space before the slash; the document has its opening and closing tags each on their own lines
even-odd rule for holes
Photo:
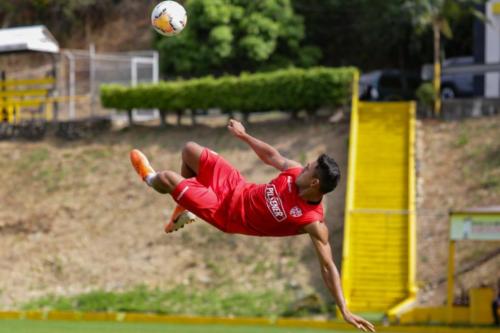
<svg viewBox="0 0 500 333">
<path fill-rule="evenodd" d="M 355 69 L 286 69 L 271 73 L 143 84 L 101 86 L 104 107 L 183 111 L 220 108 L 223 111 L 316 110 L 349 101 Z"/>
</svg>

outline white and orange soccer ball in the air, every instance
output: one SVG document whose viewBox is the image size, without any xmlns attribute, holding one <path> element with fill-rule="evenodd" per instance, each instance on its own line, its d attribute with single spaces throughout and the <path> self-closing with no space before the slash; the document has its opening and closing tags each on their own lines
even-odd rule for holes
<svg viewBox="0 0 500 333">
<path fill-rule="evenodd" d="M 175 1 L 160 2 L 151 13 L 153 28 L 164 36 L 177 35 L 186 23 L 186 10 Z"/>
</svg>

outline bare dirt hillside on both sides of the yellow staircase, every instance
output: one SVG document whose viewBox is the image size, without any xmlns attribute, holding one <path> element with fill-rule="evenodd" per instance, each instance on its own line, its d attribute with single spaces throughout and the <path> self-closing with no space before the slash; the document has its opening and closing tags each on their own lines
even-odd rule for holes
<svg viewBox="0 0 500 333">
<path fill-rule="evenodd" d="M 421 303 L 444 302 L 449 209 L 500 203 L 499 128 L 500 116 L 419 125 Z M 248 130 L 300 162 L 323 151 L 338 160 L 344 177 L 327 200 L 327 219 L 340 263 L 348 124 L 267 120 Z M 48 293 L 140 284 L 224 285 L 228 293 L 291 288 L 297 298 L 318 291 L 330 300 L 306 236 L 232 236 L 203 222 L 162 233 L 172 201 L 138 181 L 128 151 L 138 147 L 156 168 L 178 170 L 188 140 L 217 150 L 250 181 L 267 182 L 276 174 L 223 123 L 136 127 L 78 142 L 0 142 L 0 307 L 15 308 Z M 458 277 L 457 296 L 495 283 L 499 249 L 498 242 L 459 244 L 458 270 L 467 272 Z"/>
</svg>

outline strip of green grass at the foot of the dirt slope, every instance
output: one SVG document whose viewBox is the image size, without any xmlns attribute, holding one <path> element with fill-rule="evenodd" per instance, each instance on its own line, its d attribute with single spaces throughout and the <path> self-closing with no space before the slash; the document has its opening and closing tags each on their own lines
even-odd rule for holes
<svg viewBox="0 0 500 333">
<path fill-rule="evenodd" d="M 59 310 L 81 312 L 148 312 L 198 316 L 274 317 L 300 315 L 293 311 L 289 293 L 227 293 L 223 289 L 170 291 L 137 287 L 128 292 L 94 291 L 72 297 L 46 296 L 26 303 L 24 310 Z M 326 309 L 323 309 L 326 311 Z"/>
</svg>

